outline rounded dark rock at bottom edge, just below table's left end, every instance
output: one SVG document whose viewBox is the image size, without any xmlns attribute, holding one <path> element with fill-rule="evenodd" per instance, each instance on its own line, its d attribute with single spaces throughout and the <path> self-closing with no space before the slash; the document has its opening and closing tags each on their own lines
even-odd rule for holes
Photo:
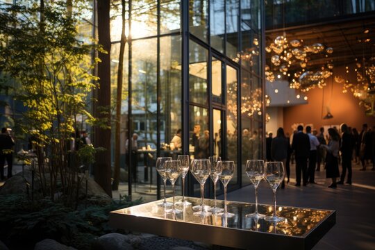
<svg viewBox="0 0 375 250">
<path fill-rule="evenodd" d="M 92 250 L 133 250 L 127 235 L 108 233 L 92 243 Z"/>
</svg>

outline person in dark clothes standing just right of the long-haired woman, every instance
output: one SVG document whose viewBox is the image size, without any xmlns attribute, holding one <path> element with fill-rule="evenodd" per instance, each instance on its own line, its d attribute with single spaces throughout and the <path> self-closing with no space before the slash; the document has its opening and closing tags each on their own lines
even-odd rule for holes
<svg viewBox="0 0 375 250">
<path fill-rule="evenodd" d="M 341 178 L 338 184 L 344 184 L 344 178 L 347 174 L 348 169 L 348 178 L 347 184 L 351 184 L 351 156 L 353 154 L 353 138 L 349 133 L 349 128 L 347 124 L 341 124 L 340 126 L 342 135 L 341 135 L 341 165 L 342 165 L 342 173 Z"/>
</svg>

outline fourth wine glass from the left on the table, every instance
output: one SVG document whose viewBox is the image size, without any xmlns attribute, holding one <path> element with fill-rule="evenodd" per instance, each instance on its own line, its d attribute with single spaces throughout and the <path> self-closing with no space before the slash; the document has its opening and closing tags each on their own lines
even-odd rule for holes
<svg viewBox="0 0 375 250">
<path fill-rule="evenodd" d="M 199 209 L 199 212 L 195 212 L 194 215 L 198 216 L 208 216 L 211 215 L 204 206 L 204 183 L 206 183 L 208 176 L 210 176 L 211 167 L 210 167 L 210 160 L 208 159 L 198 159 L 193 160 L 191 172 L 193 176 L 197 179 L 199 184 L 201 185 L 201 205 L 194 206 L 193 209 Z"/>
</svg>

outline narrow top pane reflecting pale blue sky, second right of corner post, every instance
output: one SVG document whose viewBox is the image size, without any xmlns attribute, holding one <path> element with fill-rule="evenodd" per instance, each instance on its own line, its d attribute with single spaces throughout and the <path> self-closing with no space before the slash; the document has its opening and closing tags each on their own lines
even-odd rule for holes
<svg viewBox="0 0 375 250">
<path fill-rule="evenodd" d="M 210 35 L 211 47 L 224 53 L 225 1 L 210 0 Z"/>
</svg>

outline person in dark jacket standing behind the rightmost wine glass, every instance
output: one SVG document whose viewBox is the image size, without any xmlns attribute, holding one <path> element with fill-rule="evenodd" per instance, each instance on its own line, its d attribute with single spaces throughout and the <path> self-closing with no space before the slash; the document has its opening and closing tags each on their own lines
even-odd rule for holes
<svg viewBox="0 0 375 250">
<path fill-rule="evenodd" d="M 284 129 L 278 128 L 276 138 L 272 139 L 271 144 L 271 158 L 272 160 L 281 161 L 283 165 L 286 165 L 286 159 L 288 157 L 288 139 L 285 138 Z M 281 188 L 285 188 L 285 181 L 281 183 Z"/>
</svg>

